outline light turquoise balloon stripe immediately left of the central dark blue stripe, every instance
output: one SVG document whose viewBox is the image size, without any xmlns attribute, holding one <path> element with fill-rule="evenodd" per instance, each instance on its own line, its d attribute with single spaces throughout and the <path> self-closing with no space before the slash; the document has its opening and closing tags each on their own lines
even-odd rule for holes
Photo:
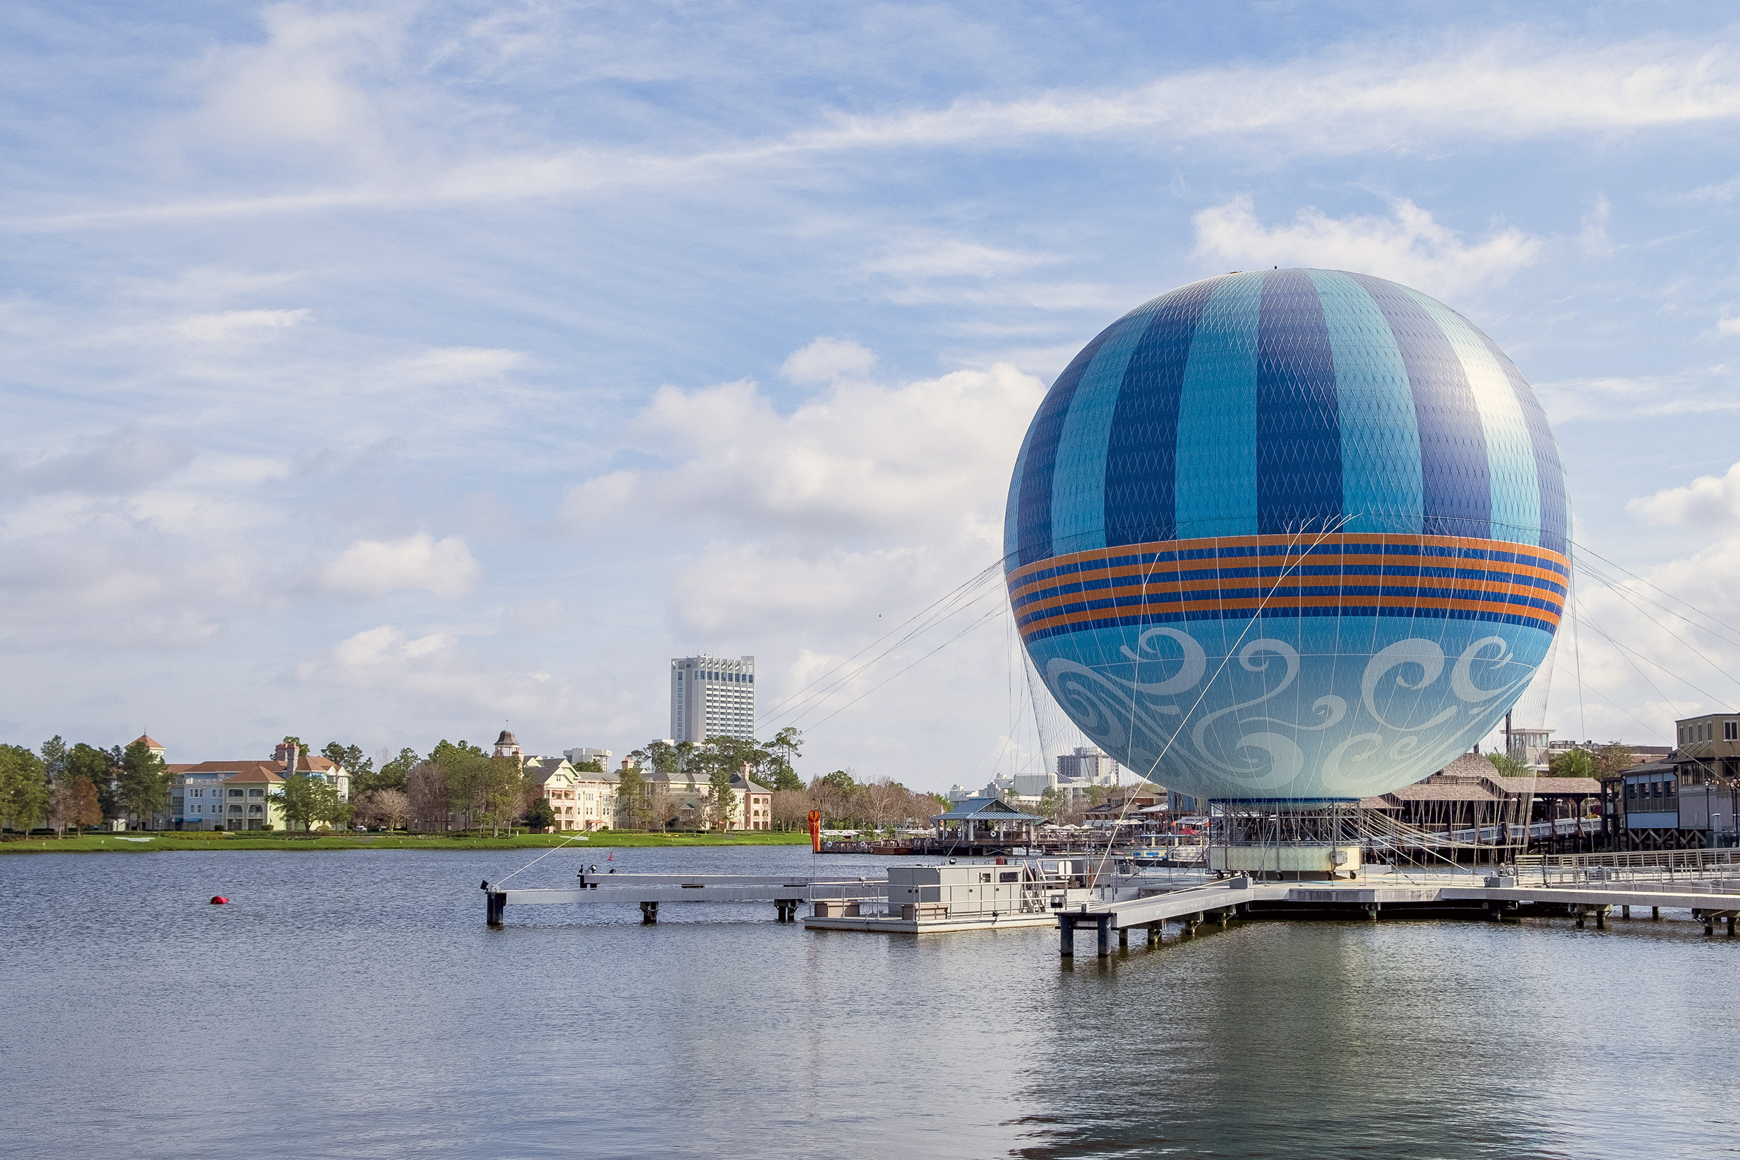
<svg viewBox="0 0 1740 1160">
<path fill-rule="evenodd" d="M 1178 397 L 1180 536 L 1256 531 L 1256 338 L 1263 275 L 1220 279 L 1202 310 Z"/>
</svg>

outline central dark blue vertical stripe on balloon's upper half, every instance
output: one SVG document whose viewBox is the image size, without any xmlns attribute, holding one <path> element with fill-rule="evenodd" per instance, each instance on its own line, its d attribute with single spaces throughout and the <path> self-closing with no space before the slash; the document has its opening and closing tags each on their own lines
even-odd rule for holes
<svg viewBox="0 0 1740 1160">
<path fill-rule="evenodd" d="M 1326 531 L 1342 514 L 1335 357 L 1317 287 L 1270 270 L 1256 331 L 1256 529 Z"/>
</svg>

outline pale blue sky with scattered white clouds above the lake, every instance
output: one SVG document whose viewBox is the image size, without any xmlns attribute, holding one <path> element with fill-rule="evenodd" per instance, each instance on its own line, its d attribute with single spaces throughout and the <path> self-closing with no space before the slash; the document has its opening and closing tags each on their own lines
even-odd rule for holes
<svg viewBox="0 0 1740 1160">
<path fill-rule="evenodd" d="M 1740 698 L 1731 19 L 5 5 L 0 740 L 623 754 L 710 651 L 806 775 L 1032 768 L 980 577 L 1034 409 L 1141 301 L 1300 265 L 1531 380 L 1582 618 L 1526 705 L 1669 744 Z"/>
</svg>

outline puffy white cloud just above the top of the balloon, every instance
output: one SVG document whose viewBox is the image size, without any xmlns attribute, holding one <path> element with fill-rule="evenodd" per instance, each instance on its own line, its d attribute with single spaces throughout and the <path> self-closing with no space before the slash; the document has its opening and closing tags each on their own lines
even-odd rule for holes
<svg viewBox="0 0 1740 1160">
<path fill-rule="evenodd" d="M 1540 239 L 1521 230 L 1496 230 L 1470 246 L 1406 199 L 1392 211 L 1390 218 L 1329 218 L 1302 209 L 1288 225 L 1265 226 L 1251 199 L 1235 197 L 1192 218 L 1195 254 L 1232 268 L 1315 266 L 1375 273 L 1446 298 L 1503 282 L 1540 253 Z"/>
</svg>

